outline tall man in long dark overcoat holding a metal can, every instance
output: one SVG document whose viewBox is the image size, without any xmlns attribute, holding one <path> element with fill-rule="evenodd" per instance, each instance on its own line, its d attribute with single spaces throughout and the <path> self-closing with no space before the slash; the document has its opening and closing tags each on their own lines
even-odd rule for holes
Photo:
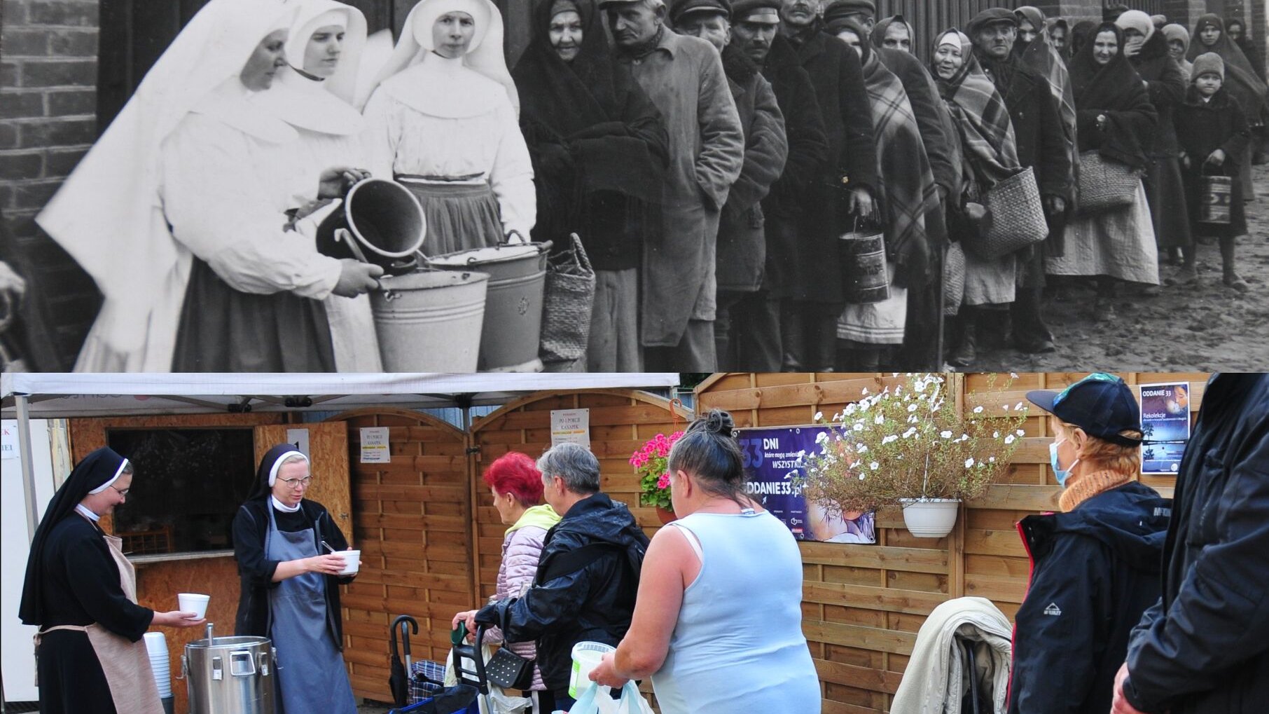
<svg viewBox="0 0 1269 714">
<path fill-rule="evenodd" d="M 772 52 L 793 52 L 811 75 L 829 135 L 829 164 L 808 196 L 792 255 L 797 281 L 782 310 L 783 367 L 792 371 L 835 366 L 845 306 L 838 239 L 855 219 L 877 211 L 877 145 L 863 66 L 845 42 L 822 32 L 820 1 L 780 0 L 779 36 L 772 42 Z"/>
</svg>

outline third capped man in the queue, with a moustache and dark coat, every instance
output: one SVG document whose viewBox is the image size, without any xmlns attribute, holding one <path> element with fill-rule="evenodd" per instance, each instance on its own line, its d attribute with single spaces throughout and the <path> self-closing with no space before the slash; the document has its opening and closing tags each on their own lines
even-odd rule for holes
<svg viewBox="0 0 1269 714">
<path fill-rule="evenodd" d="M 730 48 L 744 52 L 761 69 L 775 93 L 775 104 L 784 116 L 788 158 L 779 179 L 763 199 L 763 231 L 766 259 L 761 287 L 745 295 L 735 313 L 732 353 L 739 370 L 779 371 L 783 358 L 780 306 L 792 299 L 799 280 L 797 241 L 805 202 L 810 189 L 824 174 L 829 140 L 824 132 L 820 105 L 815 100 L 811 77 L 789 50 L 772 51 L 779 27 L 779 0 L 736 0 L 732 6 Z M 787 48 L 787 46 L 786 46 Z"/>
</svg>

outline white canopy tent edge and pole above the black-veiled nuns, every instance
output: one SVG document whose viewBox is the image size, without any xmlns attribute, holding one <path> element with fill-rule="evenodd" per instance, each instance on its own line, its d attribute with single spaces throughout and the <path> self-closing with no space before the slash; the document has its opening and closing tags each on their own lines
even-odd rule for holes
<svg viewBox="0 0 1269 714">
<path fill-rule="evenodd" d="M 39 512 L 30 419 L 505 404 L 541 390 L 667 389 L 678 372 L 619 374 L 5 374 L 0 417 L 18 421 L 29 536 Z M 466 423 L 464 423 L 466 426 Z"/>
</svg>

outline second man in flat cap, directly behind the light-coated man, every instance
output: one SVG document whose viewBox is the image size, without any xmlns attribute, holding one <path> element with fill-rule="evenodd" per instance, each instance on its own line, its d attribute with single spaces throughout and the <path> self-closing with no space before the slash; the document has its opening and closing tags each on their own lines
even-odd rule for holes
<svg viewBox="0 0 1269 714">
<path fill-rule="evenodd" d="M 745 164 L 740 178 L 731 184 L 718 220 L 718 309 L 714 318 L 718 368 L 736 371 L 741 356 L 735 352 L 739 344 L 731 339 L 736 327 L 731 318 L 741 299 L 763 286 L 766 235 L 760 202 L 784 170 L 788 156 L 784 114 L 758 64 L 731 44 L 728 0 L 678 0 L 670 8 L 670 22 L 679 34 L 699 37 L 718 50 L 745 130 Z"/>
</svg>

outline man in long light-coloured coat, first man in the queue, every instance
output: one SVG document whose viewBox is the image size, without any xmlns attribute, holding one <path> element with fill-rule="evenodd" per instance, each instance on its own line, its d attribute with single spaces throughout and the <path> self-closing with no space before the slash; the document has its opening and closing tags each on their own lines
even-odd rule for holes
<svg viewBox="0 0 1269 714">
<path fill-rule="evenodd" d="M 643 244 L 642 334 L 648 370 L 713 371 L 718 216 L 745 160 L 722 61 L 699 37 L 665 27 L 662 0 L 600 0 L 618 61 L 670 135 L 662 235 Z"/>
</svg>

